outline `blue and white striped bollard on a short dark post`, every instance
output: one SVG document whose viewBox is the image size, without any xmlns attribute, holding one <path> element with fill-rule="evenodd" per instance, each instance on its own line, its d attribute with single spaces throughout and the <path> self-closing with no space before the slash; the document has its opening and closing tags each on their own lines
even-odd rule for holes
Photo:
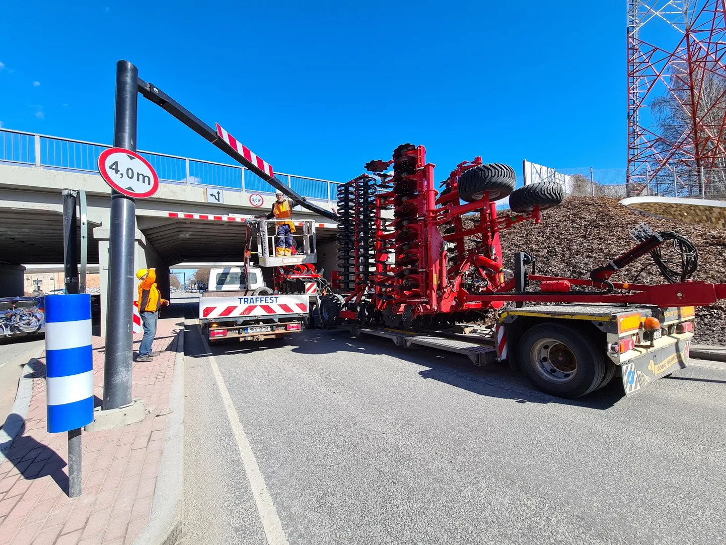
<svg viewBox="0 0 726 545">
<path fill-rule="evenodd" d="M 48 431 L 68 432 L 68 496 L 83 492 L 81 428 L 93 421 L 91 296 L 48 295 L 46 403 Z"/>
</svg>

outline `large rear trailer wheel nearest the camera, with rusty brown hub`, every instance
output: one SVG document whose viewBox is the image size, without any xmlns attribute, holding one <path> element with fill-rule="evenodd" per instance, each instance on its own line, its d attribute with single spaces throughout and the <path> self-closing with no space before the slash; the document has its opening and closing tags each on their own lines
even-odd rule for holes
<svg viewBox="0 0 726 545">
<path fill-rule="evenodd" d="M 517 355 L 529 382 L 557 397 L 588 394 L 605 378 L 605 356 L 580 331 L 558 323 L 525 331 Z"/>
</svg>

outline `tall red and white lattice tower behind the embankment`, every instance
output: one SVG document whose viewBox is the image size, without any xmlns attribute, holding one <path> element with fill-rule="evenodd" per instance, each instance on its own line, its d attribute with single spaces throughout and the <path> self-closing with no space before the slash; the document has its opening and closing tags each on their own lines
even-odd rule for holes
<svg viewBox="0 0 726 545">
<path fill-rule="evenodd" d="M 628 192 L 698 193 L 726 172 L 726 0 L 627 9 Z"/>
</svg>

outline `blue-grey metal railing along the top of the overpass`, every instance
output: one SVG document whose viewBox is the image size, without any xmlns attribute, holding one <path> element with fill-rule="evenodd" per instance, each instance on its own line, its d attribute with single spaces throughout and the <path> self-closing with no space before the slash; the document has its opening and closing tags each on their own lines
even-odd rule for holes
<svg viewBox="0 0 726 545">
<path fill-rule="evenodd" d="M 97 174 L 99 155 L 110 148 L 98 142 L 60 138 L 46 134 L 0 129 L 0 163 L 19 163 L 46 169 Z M 274 188 L 242 166 L 166 153 L 141 151 L 161 183 L 210 185 L 227 190 L 274 193 Z M 338 182 L 276 172 L 275 177 L 297 193 L 317 201 L 335 201 Z"/>
</svg>

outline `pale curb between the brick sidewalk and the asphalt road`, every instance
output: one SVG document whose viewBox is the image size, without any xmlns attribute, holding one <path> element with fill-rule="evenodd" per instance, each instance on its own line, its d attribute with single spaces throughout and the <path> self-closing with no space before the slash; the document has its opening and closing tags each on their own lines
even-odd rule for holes
<svg viewBox="0 0 726 545">
<path fill-rule="evenodd" d="M 184 497 L 184 328 L 176 342 L 174 378 L 169 392 L 159 475 L 156 478 L 151 520 L 134 545 L 174 545 L 181 537 Z"/>
</svg>

